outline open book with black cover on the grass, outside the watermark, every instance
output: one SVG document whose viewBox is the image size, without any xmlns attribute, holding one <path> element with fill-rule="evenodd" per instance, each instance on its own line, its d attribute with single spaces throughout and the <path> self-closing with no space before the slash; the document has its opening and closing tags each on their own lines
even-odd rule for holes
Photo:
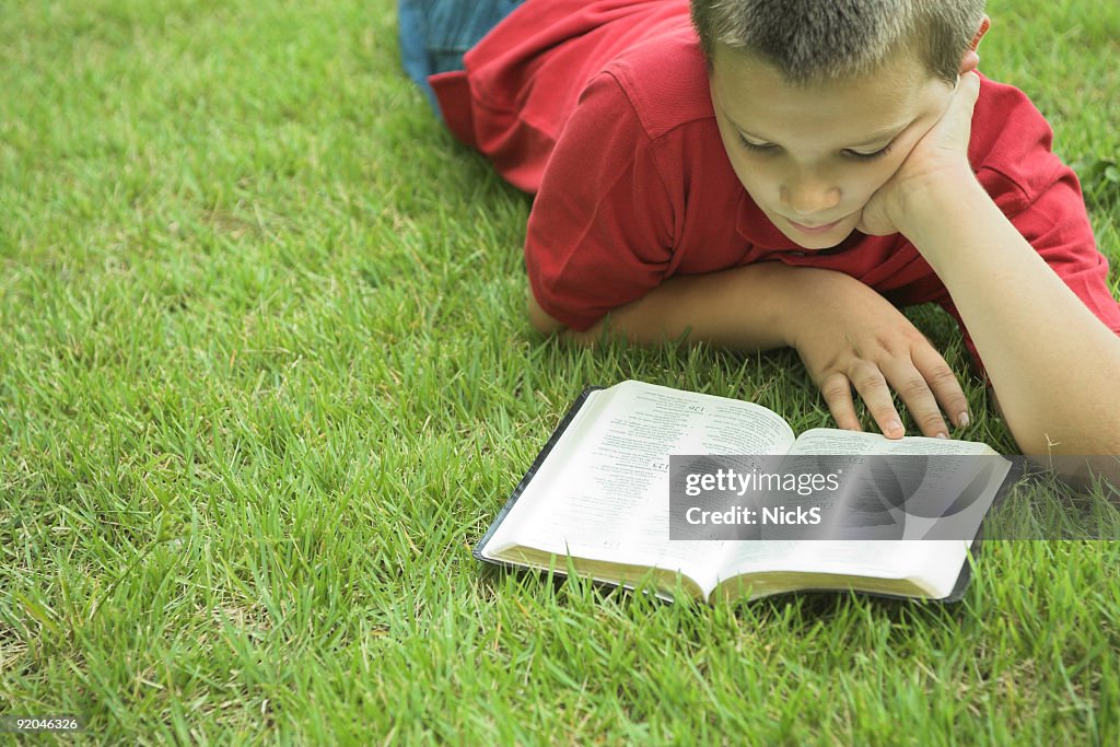
<svg viewBox="0 0 1120 747">
<path fill-rule="evenodd" d="M 962 513 L 970 522 L 962 539 L 806 540 L 782 532 L 775 534 L 781 539 L 670 538 L 671 455 L 850 455 L 858 460 L 886 454 L 987 455 L 1005 463 L 983 443 L 890 440 L 823 428 L 795 437 L 778 414 L 749 402 L 636 381 L 591 387 L 572 405 L 474 554 L 561 575 L 570 563 L 579 575 L 629 588 L 643 585 L 665 599 L 681 592 L 708 601 L 753 599 L 810 589 L 958 598 L 970 578 L 970 540 L 1010 461 L 971 480 L 973 488 L 980 483 L 973 489 L 980 497 Z"/>
</svg>

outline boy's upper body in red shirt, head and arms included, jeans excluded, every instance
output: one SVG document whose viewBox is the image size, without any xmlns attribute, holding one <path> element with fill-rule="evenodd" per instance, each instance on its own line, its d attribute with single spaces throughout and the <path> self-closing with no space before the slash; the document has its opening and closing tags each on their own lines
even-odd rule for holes
<svg viewBox="0 0 1120 747">
<path fill-rule="evenodd" d="M 477 7 L 477 6 L 474 6 Z M 402 22 L 405 11 L 402 9 Z M 429 78 L 536 198 L 544 333 L 797 349 L 841 428 L 968 423 L 896 306 L 961 324 L 1030 455 L 1120 454 L 1120 307 L 1073 172 L 981 78 L 983 0 L 528 0 Z M 408 46 L 408 45 L 405 45 Z"/>
</svg>

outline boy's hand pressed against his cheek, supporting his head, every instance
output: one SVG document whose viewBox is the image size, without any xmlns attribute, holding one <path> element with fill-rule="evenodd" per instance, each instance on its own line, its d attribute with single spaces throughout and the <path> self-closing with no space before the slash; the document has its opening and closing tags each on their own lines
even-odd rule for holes
<svg viewBox="0 0 1120 747">
<path fill-rule="evenodd" d="M 860 231 L 876 236 L 909 235 L 908 200 L 921 199 L 934 183 L 974 180 L 968 152 L 972 110 L 979 95 L 980 77 L 971 72 L 961 75 L 941 119 L 864 206 L 857 225 Z"/>
</svg>

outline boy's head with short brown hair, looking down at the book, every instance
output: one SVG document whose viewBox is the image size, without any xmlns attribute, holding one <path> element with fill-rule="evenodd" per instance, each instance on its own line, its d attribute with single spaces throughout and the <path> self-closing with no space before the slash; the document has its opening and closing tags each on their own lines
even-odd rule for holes
<svg viewBox="0 0 1120 747">
<path fill-rule="evenodd" d="M 724 144 L 808 249 L 859 223 L 976 67 L 983 0 L 692 0 Z"/>
</svg>

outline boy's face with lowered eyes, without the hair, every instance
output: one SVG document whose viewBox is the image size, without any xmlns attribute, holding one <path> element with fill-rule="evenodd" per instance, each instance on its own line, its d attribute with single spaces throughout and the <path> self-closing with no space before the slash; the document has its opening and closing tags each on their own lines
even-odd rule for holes
<svg viewBox="0 0 1120 747">
<path fill-rule="evenodd" d="M 809 87 L 717 45 L 711 99 L 739 181 L 805 249 L 836 246 L 949 105 L 953 90 L 908 54 L 866 78 Z"/>
</svg>

